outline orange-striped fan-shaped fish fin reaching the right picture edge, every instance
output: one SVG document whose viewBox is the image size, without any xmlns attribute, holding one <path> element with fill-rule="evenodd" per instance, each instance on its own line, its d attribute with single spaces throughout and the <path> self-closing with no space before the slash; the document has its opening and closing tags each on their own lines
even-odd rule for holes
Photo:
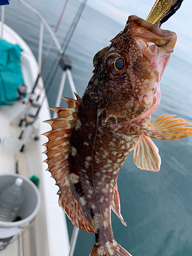
<svg viewBox="0 0 192 256">
<path fill-rule="evenodd" d="M 141 127 L 136 124 L 135 128 L 141 134 L 157 140 L 179 140 L 192 135 L 192 127 L 185 127 L 192 124 L 181 118 L 173 119 L 174 116 L 161 115 L 148 126 Z"/>
</svg>

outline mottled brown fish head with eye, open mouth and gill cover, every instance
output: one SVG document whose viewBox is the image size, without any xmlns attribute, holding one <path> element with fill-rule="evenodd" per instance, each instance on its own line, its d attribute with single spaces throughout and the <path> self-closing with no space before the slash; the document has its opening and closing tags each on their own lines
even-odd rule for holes
<svg viewBox="0 0 192 256">
<path fill-rule="evenodd" d="M 152 114 L 160 102 L 159 82 L 177 35 L 135 15 L 127 20 L 109 47 L 94 59 L 94 75 L 84 93 L 103 113 L 103 125 Z M 154 108 L 154 97 L 156 106 Z"/>
</svg>

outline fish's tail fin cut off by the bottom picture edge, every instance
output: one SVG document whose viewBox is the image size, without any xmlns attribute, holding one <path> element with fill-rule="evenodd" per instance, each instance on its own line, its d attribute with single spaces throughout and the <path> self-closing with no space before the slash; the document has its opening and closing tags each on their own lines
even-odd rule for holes
<svg viewBox="0 0 192 256">
<path fill-rule="evenodd" d="M 95 243 L 89 256 L 132 256 L 115 240 L 113 242 L 107 242 L 104 245 Z"/>
</svg>

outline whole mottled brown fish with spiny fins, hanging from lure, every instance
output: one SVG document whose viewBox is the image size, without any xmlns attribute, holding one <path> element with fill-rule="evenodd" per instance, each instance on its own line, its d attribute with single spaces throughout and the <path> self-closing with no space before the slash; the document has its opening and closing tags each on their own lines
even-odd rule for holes
<svg viewBox="0 0 192 256">
<path fill-rule="evenodd" d="M 45 162 L 59 187 L 59 205 L 77 228 L 93 232 L 90 256 L 131 256 L 113 234 L 111 210 L 124 226 L 117 187 L 119 170 L 130 152 L 140 169 L 159 172 L 161 158 L 152 139 L 192 135 L 191 125 L 175 115 L 150 123 L 160 103 L 160 80 L 177 35 L 135 15 L 93 59 L 93 76 L 82 99 L 62 97 L 68 108 L 49 108 L 58 118 Z"/>
</svg>

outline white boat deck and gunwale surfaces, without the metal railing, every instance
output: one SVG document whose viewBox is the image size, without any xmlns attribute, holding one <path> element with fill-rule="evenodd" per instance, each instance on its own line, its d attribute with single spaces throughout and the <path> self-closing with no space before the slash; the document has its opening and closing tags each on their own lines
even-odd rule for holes
<svg viewBox="0 0 192 256">
<path fill-rule="evenodd" d="M 0 26 L 1 27 L 1 26 Z M 1 32 L 1 31 L 0 31 Z M 25 84 L 28 91 L 31 91 L 38 74 L 37 62 L 25 41 L 16 34 L 11 28 L 5 25 L 4 37 L 12 44 L 18 44 L 23 49 L 22 53 L 22 71 Z M 39 82 L 37 90 L 43 87 L 42 81 Z M 0 106 L 0 138 L 14 137 L 18 138 L 21 132 L 18 123 L 20 116 L 25 111 L 25 105 L 20 102 L 14 102 L 12 106 Z M 41 108 L 39 118 L 37 120 L 37 129 L 35 135 L 50 130 L 50 125 L 42 123 L 42 121 L 50 119 L 49 110 L 47 110 L 47 99 Z M 46 163 L 42 163 L 46 159 L 41 152 L 46 147 L 41 146 L 47 138 L 40 136 L 40 139 L 34 141 L 31 139 L 27 144 L 24 153 L 16 155 L 0 154 L 0 173 L 15 173 L 15 161 L 18 160 L 19 174 L 29 178 L 32 175 L 39 177 L 39 192 L 41 196 L 40 210 L 34 222 L 34 240 L 37 256 L 65 256 L 69 252 L 69 237 L 65 214 L 58 206 L 58 196 L 56 195 L 58 187 L 54 186 L 54 179 L 50 178 L 50 173 L 45 172 Z M 1 146 L 0 146 L 1 147 Z M 24 256 L 31 256 L 29 243 L 29 230 L 24 232 Z M 17 241 L 9 245 L 2 253 L 2 256 L 16 256 Z"/>
</svg>

